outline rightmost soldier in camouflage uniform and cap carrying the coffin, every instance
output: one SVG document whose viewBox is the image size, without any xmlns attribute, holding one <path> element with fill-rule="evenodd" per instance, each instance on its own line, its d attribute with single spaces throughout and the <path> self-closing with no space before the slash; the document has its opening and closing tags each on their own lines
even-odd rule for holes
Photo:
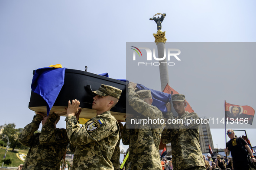
<svg viewBox="0 0 256 170">
<path fill-rule="evenodd" d="M 162 142 L 172 145 L 172 164 L 175 170 L 205 170 L 204 158 L 199 143 L 199 124 L 187 120 L 198 120 L 196 113 L 185 111 L 185 95 L 173 94 L 172 104 L 178 117 L 171 112 L 171 103 L 167 103 L 166 122 L 162 132 Z M 176 123 L 175 123 L 176 121 Z M 198 121 L 199 122 L 199 121 Z"/>
</svg>

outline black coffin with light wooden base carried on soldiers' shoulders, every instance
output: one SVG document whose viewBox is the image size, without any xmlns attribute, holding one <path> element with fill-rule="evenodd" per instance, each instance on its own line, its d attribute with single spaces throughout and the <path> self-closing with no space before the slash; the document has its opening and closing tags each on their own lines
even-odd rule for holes
<svg viewBox="0 0 256 170">
<path fill-rule="evenodd" d="M 101 84 L 111 85 L 122 90 L 119 102 L 110 111 L 117 120 L 124 121 L 126 117 L 126 82 L 75 69 L 65 69 L 64 85 L 50 113 L 66 113 L 65 107 L 68 107 L 68 101 L 77 99 L 82 107 L 81 118 L 90 119 L 96 116 L 96 110 L 91 109 L 93 102 L 91 91 L 99 89 Z M 29 109 L 46 113 L 46 105 L 45 100 L 39 94 L 31 91 Z"/>
</svg>

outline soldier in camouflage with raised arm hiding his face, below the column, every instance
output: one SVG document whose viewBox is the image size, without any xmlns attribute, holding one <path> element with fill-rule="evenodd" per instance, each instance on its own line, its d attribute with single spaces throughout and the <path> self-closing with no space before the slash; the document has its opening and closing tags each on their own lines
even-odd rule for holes
<svg viewBox="0 0 256 170">
<path fill-rule="evenodd" d="M 134 110 L 140 113 L 138 119 L 162 119 L 162 112 L 152 106 L 152 96 L 150 90 L 140 90 L 135 92 L 136 83 L 128 84 L 128 102 Z M 126 116 L 126 124 L 130 117 Z M 162 170 L 160 161 L 159 145 L 162 128 L 160 124 L 152 126 L 149 124 L 136 125 L 136 129 L 126 129 L 123 127 L 123 144 L 129 145 L 128 170 Z"/>
</svg>

